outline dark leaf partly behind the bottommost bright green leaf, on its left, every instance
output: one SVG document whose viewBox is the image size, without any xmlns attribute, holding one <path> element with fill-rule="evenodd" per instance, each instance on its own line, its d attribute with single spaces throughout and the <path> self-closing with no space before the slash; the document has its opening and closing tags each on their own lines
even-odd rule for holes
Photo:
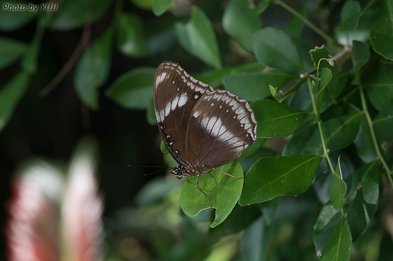
<svg viewBox="0 0 393 261">
<path fill-rule="evenodd" d="M 321 208 L 314 225 L 313 241 L 317 255 L 320 256 L 325 249 L 332 233 L 341 218 L 341 213 L 328 202 Z"/>
</svg>

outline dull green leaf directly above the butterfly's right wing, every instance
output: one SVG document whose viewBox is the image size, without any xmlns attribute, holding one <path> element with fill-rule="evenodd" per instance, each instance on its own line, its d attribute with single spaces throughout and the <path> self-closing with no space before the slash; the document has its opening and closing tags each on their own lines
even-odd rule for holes
<svg viewBox="0 0 393 261">
<path fill-rule="evenodd" d="M 263 99 L 271 95 L 269 86 L 281 88 L 293 76 L 277 70 L 267 72 L 238 73 L 225 76 L 222 83 L 225 89 L 248 101 Z"/>
</svg>

